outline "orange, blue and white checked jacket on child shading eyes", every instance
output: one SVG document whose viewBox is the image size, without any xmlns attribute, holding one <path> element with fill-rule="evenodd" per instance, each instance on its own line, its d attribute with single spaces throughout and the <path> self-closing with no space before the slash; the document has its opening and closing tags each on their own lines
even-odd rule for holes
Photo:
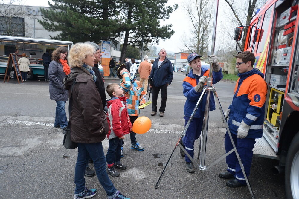
<svg viewBox="0 0 299 199">
<path fill-rule="evenodd" d="M 125 96 L 127 97 L 127 109 L 129 116 L 138 116 L 140 104 L 145 104 L 145 91 L 143 90 L 142 84 L 132 76 L 129 77 L 127 72 L 123 73 L 123 79 L 120 82 L 120 87 L 123 89 Z"/>
</svg>

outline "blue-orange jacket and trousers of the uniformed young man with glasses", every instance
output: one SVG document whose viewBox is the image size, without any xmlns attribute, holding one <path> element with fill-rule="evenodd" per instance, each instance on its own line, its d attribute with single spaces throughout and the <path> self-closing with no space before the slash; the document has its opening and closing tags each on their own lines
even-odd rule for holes
<svg viewBox="0 0 299 199">
<path fill-rule="evenodd" d="M 228 127 L 245 168 L 245 173 L 249 176 L 255 138 L 261 138 L 263 134 L 267 84 L 263 79 L 264 74 L 256 69 L 239 73 L 238 76 L 233 101 L 228 108 L 231 110 L 228 114 Z M 242 120 L 250 128 L 248 135 L 240 139 L 237 138 L 237 129 Z M 228 132 L 225 134 L 224 144 L 226 152 L 233 149 Z M 240 183 L 246 184 L 235 153 L 226 157 L 226 163 L 228 164 L 227 171 L 234 174 Z"/>
</svg>

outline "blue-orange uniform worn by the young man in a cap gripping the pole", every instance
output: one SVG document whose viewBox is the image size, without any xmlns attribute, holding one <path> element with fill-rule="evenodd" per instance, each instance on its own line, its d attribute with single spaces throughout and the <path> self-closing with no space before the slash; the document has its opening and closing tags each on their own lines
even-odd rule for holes
<svg viewBox="0 0 299 199">
<path fill-rule="evenodd" d="M 198 84 L 199 78 L 202 75 L 207 76 L 209 74 L 209 69 L 203 67 L 201 69 L 202 72 L 200 76 L 193 74 L 193 70 L 191 69 L 188 76 L 183 81 L 183 93 L 184 96 L 187 97 L 186 103 L 184 105 L 184 115 L 185 115 L 184 119 L 186 120 L 185 126 L 201 95 L 201 92 L 196 92 L 194 87 Z M 216 84 L 222 78 L 223 78 L 222 69 L 219 70 L 218 72 L 213 71 L 213 84 Z M 202 123 L 203 123 L 203 117 L 205 112 L 206 98 L 207 95 L 205 94 L 203 96 L 202 102 L 199 104 L 199 107 L 197 109 L 196 114 L 193 117 L 193 120 L 191 121 L 186 131 L 186 135 L 183 137 L 183 144 L 185 146 L 185 149 L 192 158 L 194 156 L 194 148 L 193 148 L 194 142 L 199 138 L 202 131 Z M 213 95 L 211 95 L 210 111 L 213 110 L 215 110 L 215 100 Z M 187 157 L 187 155 L 185 155 L 185 160 L 186 162 L 191 162 L 191 160 Z"/>
</svg>

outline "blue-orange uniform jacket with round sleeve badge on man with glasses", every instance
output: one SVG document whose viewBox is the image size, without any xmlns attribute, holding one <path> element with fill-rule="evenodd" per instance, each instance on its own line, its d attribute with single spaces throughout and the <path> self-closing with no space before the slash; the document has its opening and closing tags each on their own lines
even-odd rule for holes
<svg viewBox="0 0 299 199">
<path fill-rule="evenodd" d="M 231 133 L 237 135 L 237 129 L 242 120 L 250 126 L 246 138 L 261 138 L 265 115 L 265 101 L 267 84 L 264 74 L 253 69 L 238 74 L 239 79 L 235 86 L 233 102 L 228 116 L 228 127 Z"/>
</svg>

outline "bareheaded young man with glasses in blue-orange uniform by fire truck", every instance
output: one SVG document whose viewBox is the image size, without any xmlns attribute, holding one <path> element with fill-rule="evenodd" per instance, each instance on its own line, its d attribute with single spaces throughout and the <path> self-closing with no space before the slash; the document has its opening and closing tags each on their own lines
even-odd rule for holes
<svg viewBox="0 0 299 199">
<path fill-rule="evenodd" d="M 248 177 L 255 138 L 261 138 L 263 134 L 267 84 L 264 81 L 264 74 L 253 68 L 255 62 L 253 53 L 245 51 L 235 57 L 239 79 L 235 86 L 233 101 L 224 115 L 228 118 L 228 128 Z M 228 132 L 225 134 L 224 145 L 226 153 L 233 149 Z M 229 187 L 245 186 L 245 177 L 235 152 L 226 157 L 226 163 L 227 171 L 220 173 L 219 177 L 233 178 L 226 183 Z"/>
</svg>

